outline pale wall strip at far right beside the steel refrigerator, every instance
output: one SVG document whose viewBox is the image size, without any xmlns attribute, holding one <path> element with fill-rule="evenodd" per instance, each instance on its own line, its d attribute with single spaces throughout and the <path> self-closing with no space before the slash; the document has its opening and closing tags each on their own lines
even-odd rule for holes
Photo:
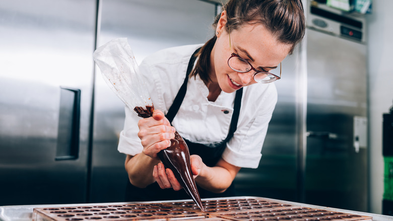
<svg viewBox="0 0 393 221">
<path fill-rule="evenodd" d="M 369 73 L 369 146 L 370 146 L 370 212 L 382 213 L 383 158 L 382 114 L 393 100 L 393 1 L 373 1 L 368 21 Z"/>
</svg>

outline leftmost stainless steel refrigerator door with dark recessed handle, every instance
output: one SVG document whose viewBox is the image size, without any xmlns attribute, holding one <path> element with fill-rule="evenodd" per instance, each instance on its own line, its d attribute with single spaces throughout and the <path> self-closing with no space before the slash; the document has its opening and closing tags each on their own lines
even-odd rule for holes
<svg viewBox="0 0 393 221">
<path fill-rule="evenodd" d="M 96 1 L 0 4 L 0 205 L 81 203 Z"/>
</svg>

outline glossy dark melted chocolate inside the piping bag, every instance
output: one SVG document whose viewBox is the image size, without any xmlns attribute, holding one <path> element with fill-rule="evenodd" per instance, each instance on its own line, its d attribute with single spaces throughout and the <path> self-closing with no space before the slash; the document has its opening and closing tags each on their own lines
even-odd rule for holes
<svg viewBox="0 0 393 221">
<path fill-rule="evenodd" d="M 149 118 L 153 116 L 154 106 L 146 106 L 146 109 L 142 106 L 136 106 L 134 111 L 138 113 L 139 117 Z M 205 211 L 201 197 L 198 193 L 197 185 L 195 185 L 195 181 L 192 177 L 188 146 L 177 131 L 175 132 L 175 139 L 171 139 L 171 145 L 161 150 L 157 155 L 160 157 L 165 167 L 172 170 L 176 179 L 183 186 L 191 199 L 197 203 L 202 211 Z"/>
</svg>

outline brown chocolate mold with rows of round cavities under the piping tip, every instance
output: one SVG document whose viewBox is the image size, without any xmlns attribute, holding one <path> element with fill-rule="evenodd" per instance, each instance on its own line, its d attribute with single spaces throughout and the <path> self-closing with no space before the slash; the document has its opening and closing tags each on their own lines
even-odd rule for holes
<svg viewBox="0 0 393 221">
<path fill-rule="evenodd" d="M 372 220 L 369 216 L 291 205 L 259 197 L 203 200 L 206 212 L 193 201 L 83 204 L 34 208 L 33 220 Z"/>
</svg>

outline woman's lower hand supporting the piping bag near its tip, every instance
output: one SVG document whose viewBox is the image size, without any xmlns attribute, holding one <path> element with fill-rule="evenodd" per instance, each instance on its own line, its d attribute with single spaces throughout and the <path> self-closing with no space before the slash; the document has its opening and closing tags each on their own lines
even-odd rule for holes
<svg viewBox="0 0 393 221">
<path fill-rule="evenodd" d="M 198 155 L 191 155 L 190 163 L 191 172 L 195 179 L 198 175 L 200 175 L 202 168 L 206 167 L 206 165 L 202 162 L 202 158 Z M 183 188 L 179 181 L 177 181 L 172 170 L 169 168 L 165 169 L 164 164 L 161 162 L 154 166 L 153 177 L 157 181 L 158 185 L 160 185 L 161 189 L 173 188 L 173 190 L 178 191 Z"/>
</svg>

